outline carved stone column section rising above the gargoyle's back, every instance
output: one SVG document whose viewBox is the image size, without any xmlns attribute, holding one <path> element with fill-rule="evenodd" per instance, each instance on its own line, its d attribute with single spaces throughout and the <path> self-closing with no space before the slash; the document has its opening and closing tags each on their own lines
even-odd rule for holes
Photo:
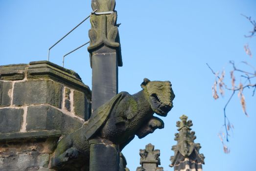
<svg viewBox="0 0 256 171">
<path fill-rule="evenodd" d="M 92 110 L 118 92 L 118 66 L 122 66 L 115 0 L 92 0 L 94 14 L 89 30 L 90 62 L 93 69 Z"/>
</svg>

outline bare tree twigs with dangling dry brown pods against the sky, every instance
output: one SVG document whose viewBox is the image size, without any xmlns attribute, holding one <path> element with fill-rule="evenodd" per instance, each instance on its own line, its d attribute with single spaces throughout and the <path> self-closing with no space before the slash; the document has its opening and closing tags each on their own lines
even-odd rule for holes
<svg viewBox="0 0 256 171">
<path fill-rule="evenodd" d="M 254 29 L 253 31 L 250 31 L 251 35 L 249 36 L 245 36 L 246 38 L 252 38 L 253 36 L 256 36 L 256 21 L 252 21 L 251 17 L 247 17 L 243 14 L 241 14 L 242 16 L 244 16 L 247 20 L 250 21 L 251 24 L 253 24 Z M 252 57 L 252 52 L 251 49 L 249 47 L 249 44 L 247 43 L 246 45 L 244 45 L 244 50 L 246 52 L 247 55 L 249 55 L 250 57 Z M 246 66 L 251 70 L 253 69 L 253 72 L 250 71 L 248 68 L 246 69 L 240 69 L 238 67 L 236 67 L 234 61 L 230 61 L 230 64 L 232 65 L 233 69 L 230 71 L 230 76 L 231 76 L 231 88 L 228 87 L 228 85 L 224 82 L 224 77 L 225 77 L 225 70 L 222 71 L 221 75 L 219 76 L 219 72 L 215 72 L 210 66 L 209 64 L 207 64 L 207 66 L 209 67 L 209 69 L 211 70 L 212 74 L 215 75 L 215 82 L 214 85 L 212 86 L 212 93 L 213 93 L 213 98 L 216 100 L 219 98 L 218 96 L 218 92 L 224 96 L 224 89 L 225 90 L 229 90 L 231 93 L 231 96 L 229 97 L 227 103 L 225 104 L 224 108 L 223 108 L 223 113 L 224 113 L 224 125 L 223 127 L 225 127 L 225 130 L 223 130 L 223 128 L 221 128 L 221 132 L 218 134 L 221 143 L 223 145 L 223 149 L 225 153 L 229 153 L 230 150 L 229 148 L 225 145 L 225 142 L 223 141 L 224 139 L 226 139 L 226 142 L 229 142 L 229 136 L 230 136 L 230 131 L 232 131 L 233 125 L 230 123 L 229 118 L 227 117 L 227 113 L 226 113 L 226 109 L 228 107 L 228 105 L 230 104 L 233 96 L 235 93 L 237 93 L 238 98 L 240 100 L 240 104 L 242 107 L 242 110 L 244 112 L 244 114 L 246 116 L 248 116 L 248 113 L 246 111 L 246 102 L 245 102 L 245 96 L 243 93 L 243 90 L 245 88 L 253 88 L 253 96 L 256 93 L 256 68 L 251 65 L 248 64 L 247 62 L 242 61 L 241 63 L 246 64 Z M 238 76 L 239 74 L 239 76 Z M 236 78 L 237 77 L 240 78 L 240 82 L 239 85 L 235 83 Z M 243 83 L 243 84 L 242 84 Z M 218 87 L 219 86 L 219 91 L 218 91 Z M 223 87 L 225 87 L 223 89 Z"/>
</svg>

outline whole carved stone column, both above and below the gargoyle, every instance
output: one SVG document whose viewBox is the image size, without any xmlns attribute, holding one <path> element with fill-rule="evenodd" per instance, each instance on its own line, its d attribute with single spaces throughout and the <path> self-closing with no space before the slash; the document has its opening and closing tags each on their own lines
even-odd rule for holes
<svg viewBox="0 0 256 171">
<path fill-rule="evenodd" d="M 93 69 L 92 111 L 118 92 L 118 66 L 122 66 L 115 0 L 92 0 L 90 63 Z M 119 148 L 104 139 L 90 141 L 90 171 L 119 171 Z"/>
</svg>

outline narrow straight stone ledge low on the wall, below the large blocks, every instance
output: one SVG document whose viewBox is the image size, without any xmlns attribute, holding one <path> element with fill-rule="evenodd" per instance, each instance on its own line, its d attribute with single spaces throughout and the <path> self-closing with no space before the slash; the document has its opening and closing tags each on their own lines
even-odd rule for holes
<svg viewBox="0 0 256 171">
<path fill-rule="evenodd" d="M 60 136 L 61 136 L 60 130 L 0 133 L 0 141 L 33 139 L 33 138 L 48 138 L 48 137 L 58 138 Z"/>
</svg>

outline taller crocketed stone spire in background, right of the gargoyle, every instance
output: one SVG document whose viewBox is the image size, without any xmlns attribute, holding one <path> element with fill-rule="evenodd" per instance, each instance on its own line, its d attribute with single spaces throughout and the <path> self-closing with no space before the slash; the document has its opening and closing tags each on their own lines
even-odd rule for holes
<svg viewBox="0 0 256 171">
<path fill-rule="evenodd" d="M 174 140 L 177 141 L 176 146 L 172 146 L 174 156 L 171 156 L 170 167 L 174 167 L 174 171 L 202 171 L 204 163 L 204 155 L 199 153 L 201 146 L 194 143 L 196 139 L 195 132 L 191 131 L 192 121 L 187 121 L 187 116 L 182 115 L 181 121 L 177 122 L 179 133 L 175 134 Z"/>
</svg>

